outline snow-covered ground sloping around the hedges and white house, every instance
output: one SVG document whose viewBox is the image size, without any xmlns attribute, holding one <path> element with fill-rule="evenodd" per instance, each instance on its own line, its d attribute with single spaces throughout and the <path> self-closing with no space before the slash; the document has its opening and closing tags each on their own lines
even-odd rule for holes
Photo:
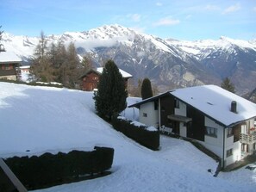
<svg viewBox="0 0 256 192">
<path fill-rule="evenodd" d="M 256 170 L 213 177 L 216 162 L 182 139 L 160 138 L 160 150 L 140 146 L 95 115 L 92 92 L 0 83 L 0 157 L 115 149 L 110 174 L 37 192 L 255 191 Z M 128 98 L 128 104 L 139 101 Z M 138 118 L 138 110 L 122 115 Z M 213 170 L 210 173 L 208 170 Z"/>
</svg>

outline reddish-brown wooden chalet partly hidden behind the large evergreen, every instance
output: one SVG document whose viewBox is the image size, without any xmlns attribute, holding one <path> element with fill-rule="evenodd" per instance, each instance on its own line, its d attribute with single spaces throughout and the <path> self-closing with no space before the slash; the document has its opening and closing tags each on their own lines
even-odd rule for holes
<svg viewBox="0 0 256 192">
<path fill-rule="evenodd" d="M 119 71 L 121 72 L 122 77 L 125 80 L 126 88 L 128 88 L 128 79 L 133 76 L 128 72 L 123 71 L 122 69 L 119 69 Z M 97 69 L 91 69 L 87 71 L 81 77 L 81 80 L 82 80 L 81 89 L 85 91 L 92 91 L 97 89 L 99 77 L 101 76 L 102 73 L 103 73 L 103 67 L 98 67 Z"/>
</svg>

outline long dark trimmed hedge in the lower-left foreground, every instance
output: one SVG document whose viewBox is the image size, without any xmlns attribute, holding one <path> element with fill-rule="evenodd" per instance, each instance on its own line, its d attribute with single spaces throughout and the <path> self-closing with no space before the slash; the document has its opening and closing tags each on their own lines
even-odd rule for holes
<svg viewBox="0 0 256 192">
<path fill-rule="evenodd" d="M 114 149 L 95 147 L 92 152 L 44 153 L 40 157 L 5 159 L 10 170 L 27 189 L 42 189 L 103 174 L 113 163 Z"/>
</svg>

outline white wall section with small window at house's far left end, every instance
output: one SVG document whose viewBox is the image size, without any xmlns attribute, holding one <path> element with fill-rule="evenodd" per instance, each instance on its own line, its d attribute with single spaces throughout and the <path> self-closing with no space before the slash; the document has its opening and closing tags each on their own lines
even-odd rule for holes
<svg viewBox="0 0 256 192">
<path fill-rule="evenodd" d="M 159 110 L 155 110 L 154 102 L 140 105 L 140 122 L 147 126 L 159 127 Z"/>
</svg>

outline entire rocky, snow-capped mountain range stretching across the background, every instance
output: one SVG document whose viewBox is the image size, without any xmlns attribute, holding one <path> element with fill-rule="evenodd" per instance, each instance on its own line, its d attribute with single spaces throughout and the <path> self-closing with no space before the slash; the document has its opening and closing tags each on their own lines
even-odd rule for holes
<svg viewBox="0 0 256 192">
<path fill-rule="evenodd" d="M 7 51 L 27 61 L 38 38 L 3 34 Z M 224 77 L 242 95 L 256 88 L 256 42 L 232 40 L 162 40 L 119 25 L 86 32 L 47 36 L 48 45 L 71 41 L 80 56 L 90 56 L 96 66 L 113 59 L 122 70 L 138 78 L 149 77 L 160 91 L 199 84 L 220 85 Z"/>
</svg>

